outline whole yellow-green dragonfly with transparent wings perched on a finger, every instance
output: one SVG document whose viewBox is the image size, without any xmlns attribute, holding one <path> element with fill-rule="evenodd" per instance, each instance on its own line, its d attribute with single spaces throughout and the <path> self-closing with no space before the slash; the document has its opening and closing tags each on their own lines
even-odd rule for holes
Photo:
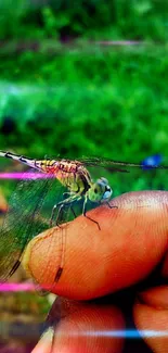
<svg viewBox="0 0 168 353">
<path fill-rule="evenodd" d="M 74 205 L 77 202 L 81 202 L 82 215 L 93 222 L 101 230 L 100 224 L 87 214 L 87 205 L 90 202 L 96 205 L 107 204 L 108 207 L 116 207 L 109 203 L 113 189 L 104 176 L 94 181 L 89 168 L 96 169 L 101 167 L 109 174 L 115 172 L 128 174 L 133 168 L 142 168 L 141 164 L 98 157 L 36 160 L 4 151 L 0 151 L 0 156 L 17 161 L 47 176 L 41 179 L 25 179 L 18 184 L 16 190 L 12 193 L 10 207 L 0 231 L 1 281 L 8 280 L 18 268 L 23 253 L 34 237 L 44 229 L 51 228 L 52 231 L 54 225 L 62 227 L 62 222 L 66 220 L 69 211 L 73 213 L 73 217 L 76 217 Z M 152 166 L 152 169 L 167 168 L 167 166 Z M 54 187 L 54 180 L 57 180 L 66 192 L 63 192 L 63 189 L 59 188 L 57 184 Z M 59 199 L 56 198 L 59 192 L 62 193 L 63 198 L 54 203 L 54 200 Z M 54 200 L 49 220 L 46 223 L 42 217 L 40 218 L 40 215 L 44 203 L 48 203 L 51 196 Z M 57 240 L 60 249 L 57 254 L 59 265 L 54 282 L 59 281 L 64 267 L 65 238 L 66 234 L 62 234 Z"/>
</svg>

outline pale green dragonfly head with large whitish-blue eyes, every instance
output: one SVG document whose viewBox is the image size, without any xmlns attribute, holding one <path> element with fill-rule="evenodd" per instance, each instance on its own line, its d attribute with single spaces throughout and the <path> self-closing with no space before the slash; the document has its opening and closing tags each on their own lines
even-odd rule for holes
<svg viewBox="0 0 168 353">
<path fill-rule="evenodd" d="M 112 193 L 108 180 L 103 177 L 93 182 L 88 190 L 89 200 L 92 202 L 106 202 L 111 199 Z"/>
</svg>

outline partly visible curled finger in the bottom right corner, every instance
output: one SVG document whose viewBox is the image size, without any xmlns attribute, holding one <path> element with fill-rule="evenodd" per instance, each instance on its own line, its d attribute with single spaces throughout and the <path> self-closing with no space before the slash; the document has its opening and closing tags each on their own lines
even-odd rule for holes
<svg viewBox="0 0 168 353">
<path fill-rule="evenodd" d="M 140 335 L 155 353 L 168 352 L 168 286 L 139 294 L 134 305 L 134 323 Z"/>
</svg>

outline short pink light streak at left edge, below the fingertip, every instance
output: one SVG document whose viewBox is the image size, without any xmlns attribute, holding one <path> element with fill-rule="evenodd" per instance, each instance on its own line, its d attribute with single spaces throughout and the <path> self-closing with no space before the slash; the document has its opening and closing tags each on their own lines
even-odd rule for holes
<svg viewBox="0 0 168 353">
<path fill-rule="evenodd" d="M 31 292 L 35 291 L 34 283 L 0 283 L 0 292 Z"/>
</svg>

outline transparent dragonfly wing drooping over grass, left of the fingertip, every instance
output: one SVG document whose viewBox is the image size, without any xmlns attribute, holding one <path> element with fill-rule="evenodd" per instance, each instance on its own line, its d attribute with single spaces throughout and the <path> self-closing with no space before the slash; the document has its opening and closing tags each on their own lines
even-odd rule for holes
<svg viewBox="0 0 168 353">
<path fill-rule="evenodd" d="M 18 184 L 0 230 L 1 281 L 15 272 L 28 242 L 49 228 L 52 207 L 63 192 L 62 185 L 53 178 L 27 179 Z"/>
</svg>

